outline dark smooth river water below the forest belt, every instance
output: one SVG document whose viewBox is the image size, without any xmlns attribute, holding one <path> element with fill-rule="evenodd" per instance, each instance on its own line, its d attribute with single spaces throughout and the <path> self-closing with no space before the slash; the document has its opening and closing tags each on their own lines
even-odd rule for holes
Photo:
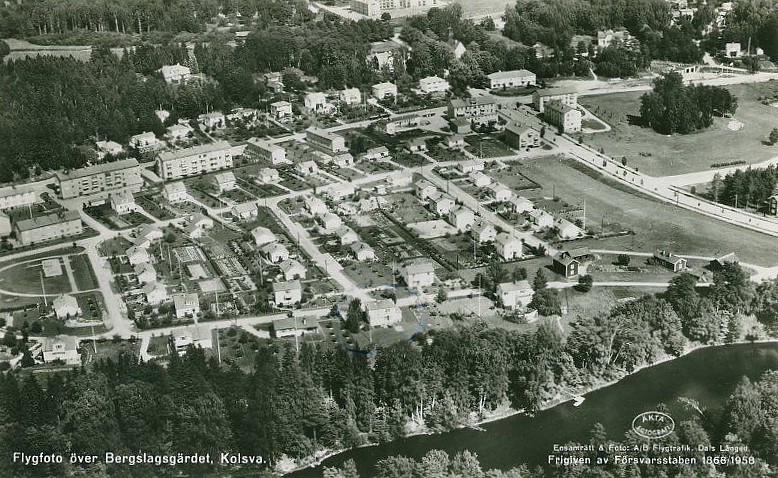
<svg viewBox="0 0 778 478">
<path fill-rule="evenodd" d="M 690 413 L 678 402 L 679 397 L 698 400 L 706 408 L 723 407 L 743 375 L 755 380 L 767 370 L 778 370 L 778 344 L 700 349 L 591 392 L 577 408 L 566 402 L 534 417 L 514 415 L 484 424 L 484 431 L 462 429 L 359 448 L 325 460 L 322 466 L 338 466 L 353 459 L 360 475 L 369 478 L 374 475 L 375 463 L 387 456 L 419 459 L 432 449 L 450 455 L 471 450 L 478 454 L 484 469 L 505 470 L 522 463 L 545 465 L 554 444 L 588 441 L 597 422 L 605 426 L 609 438 L 619 439 L 637 414 L 655 409 L 658 403 L 666 404 L 678 422 Z M 307 468 L 289 476 L 321 478 L 322 469 Z"/>
</svg>

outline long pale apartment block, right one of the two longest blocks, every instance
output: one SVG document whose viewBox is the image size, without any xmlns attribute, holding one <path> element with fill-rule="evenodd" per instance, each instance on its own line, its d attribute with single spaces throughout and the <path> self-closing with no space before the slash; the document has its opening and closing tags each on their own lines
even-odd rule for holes
<svg viewBox="0 0 778 478">
<path fill-rule="evenodd" d="M 157 173 L 165 181 L 232 168 L 232 147 L 226 141 L 157 155 Z"/>
</svg>

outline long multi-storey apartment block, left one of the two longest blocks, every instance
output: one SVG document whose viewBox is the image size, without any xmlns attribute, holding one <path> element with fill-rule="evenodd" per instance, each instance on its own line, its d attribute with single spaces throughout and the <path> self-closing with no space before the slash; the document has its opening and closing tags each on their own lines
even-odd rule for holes
<svg viewBox="0 0 778 478">
<path fill-rule="evenodd" d="M 59 196 L 72 199 L 80 196 L 105 195 L 124 189 L 136 193 L 143 186 L 140 164 L 134 158 L 97 164 L 54 175 L 59 184 Z"/>
</svg>

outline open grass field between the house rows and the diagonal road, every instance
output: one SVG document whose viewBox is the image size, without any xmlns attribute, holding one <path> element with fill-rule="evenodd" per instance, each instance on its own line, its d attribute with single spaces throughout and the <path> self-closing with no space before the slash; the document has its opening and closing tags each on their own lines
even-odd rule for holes
<svg viewBox="0 0 778 478">
<path fill-rule="evenodd" d="M 551 196 L 552 190 L 570 204 L 582 203 L 585 198 L 588 226 L 597 230 L 604 222 L 611 228 L 618 226 L 635 231 L 634 236 L 574 241 L 566 248 L 589 246 L 643 252 L 664 248 L 705 256 L 734 251 L 744 262 L 763 266 L 778 263 L 774 237 L 614 188 L 566 162 L 548 158 L 529 161 L 522 172 L 543 185 L 542 190 L 528 195 L 529 198 Z"/>
</svg>

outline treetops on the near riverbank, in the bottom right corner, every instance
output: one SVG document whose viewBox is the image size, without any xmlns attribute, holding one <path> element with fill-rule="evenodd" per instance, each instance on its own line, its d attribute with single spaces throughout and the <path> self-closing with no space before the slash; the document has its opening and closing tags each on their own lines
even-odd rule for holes
<svg viewBox="0 0 778 478">
<path fill-rule="evenodd" d="M 768 471 L 778 464 L 778 372 L 767 372 L 758 381 L 752 382 L 743 377 L 729 400 L 721 409 L 707 410 L 698 404 L 687 400 L 691 419 L 677 424 L 676 433 L 661 440 L 662 446 L 688 445 L 689 452 L 679 453 L 680 456 L 695 458 L 694 465 L 655 465 L 655 464 L 597 464 L 598 458 L 607 458 L 613 453 L 607 450 L 613 445 L 643 447 L 649 445 L 649 440 L 641 438 L 633 432 L 627 432 L 620 440 L 608 438 L 607 430 L 597 423 L 591 430 L 588 442 L 568 443 L 570 446 L 592 446 L 595 451 L 574 453 L 580 459 L 589 459 L 591 464 L 576 464 L 573 466 L 557 466 L 553 476 L 558 478 L 584 477 L 646 477 L 663 476 L 679 478 L 703 478 L 710 476 L 733 476 L 742 478 L 771 476 Z M 659 404 L 657 410 L 665 409 Z M 656 443 L 656 442 L 654 442 Z M 711 466 L 702 462 L 703 452 L 699 447 L 725 445 L 729 447 L 749 446 L 758 457 L 755 463 L 747 463 L 751 453 L 736 453 L 736 456 L 746 458 L 746 463 L 734 466 L 717 467 L 717 472 Z M 663 456 L 663 452 L 649 450 L 641 452 L 641 458 L 651 459 Z M 359 478 L 359 473 L 353 461 L 347 461 L 341 467 L 324 469 L 324 478 Z M 507 471 L 483 470 L 478 456 L 467 450 L 453 457 L 441 450 L 430 450 L 421 460 L 413 460 L 404 456 L 393 456 L 379 461 L 375 473 L 369 476 L 375 478 L 543 478 L 547 476 L 540 469 L 530 470 L 520 466 Z"/>
</svg>

